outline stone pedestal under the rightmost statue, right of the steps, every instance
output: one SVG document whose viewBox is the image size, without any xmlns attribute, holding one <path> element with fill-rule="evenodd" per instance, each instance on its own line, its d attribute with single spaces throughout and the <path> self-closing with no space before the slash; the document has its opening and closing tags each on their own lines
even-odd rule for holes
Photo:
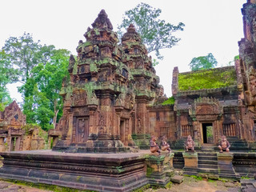
<svg viewBox="0 0 256 192">
<path fill-rule="evenodd" d="M 235 173 L 232 164 L 233 154 L 230 153 L 218 153 L 218 175 L 221 178 L 231 178 L 239 180 L 240 176 Z"/>
</svg>

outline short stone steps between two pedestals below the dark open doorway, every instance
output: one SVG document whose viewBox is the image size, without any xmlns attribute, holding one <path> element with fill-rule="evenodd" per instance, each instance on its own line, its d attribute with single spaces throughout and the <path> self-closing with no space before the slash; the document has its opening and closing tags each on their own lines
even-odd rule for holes
<svg viewBox="0 0 256 192">
<path fill-rule="evenodd" d="M 214 151 L 198 152 L 198 174 L 209 174 L 218 178 L 218 158 Z"/>
</svg>

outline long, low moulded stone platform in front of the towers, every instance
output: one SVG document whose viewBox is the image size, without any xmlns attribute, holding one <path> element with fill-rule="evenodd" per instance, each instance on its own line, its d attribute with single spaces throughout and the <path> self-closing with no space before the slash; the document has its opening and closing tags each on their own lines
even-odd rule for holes
<svg viewBox="0 0 256 192">
<path fill-rule="evenodd" d="M 0 178 L 97 191 L 131 191 L 148 183 L 140 154 L 31 150 L 0 155 L 4 158 Z"/>
</svg>

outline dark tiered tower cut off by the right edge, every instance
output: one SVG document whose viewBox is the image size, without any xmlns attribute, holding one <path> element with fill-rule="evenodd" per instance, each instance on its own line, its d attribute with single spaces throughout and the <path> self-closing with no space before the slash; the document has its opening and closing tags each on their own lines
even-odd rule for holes
<svg viewBox="0 0 256 192">
<path fill-rule="evenodd" d="M 239 99 L 242 107 L 242 122 L 247 141 L 255 141 L 256 126 L 256 1 L 248 0 L 242 8 L 243 29 L 245 37 L 238 42 L 239 60 L 235 62 Z"/>
</svg>

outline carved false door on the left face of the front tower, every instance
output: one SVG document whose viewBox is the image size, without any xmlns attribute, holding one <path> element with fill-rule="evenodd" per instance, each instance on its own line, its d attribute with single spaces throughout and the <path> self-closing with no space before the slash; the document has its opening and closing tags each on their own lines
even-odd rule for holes
<svg viewBox="0 0 256 192">
<path fill-rule="evenodd" d="M 77 143 L 84 143 L 89 136 L 89 118 L 77 118 L 75 141 Z"/>
</svg>

